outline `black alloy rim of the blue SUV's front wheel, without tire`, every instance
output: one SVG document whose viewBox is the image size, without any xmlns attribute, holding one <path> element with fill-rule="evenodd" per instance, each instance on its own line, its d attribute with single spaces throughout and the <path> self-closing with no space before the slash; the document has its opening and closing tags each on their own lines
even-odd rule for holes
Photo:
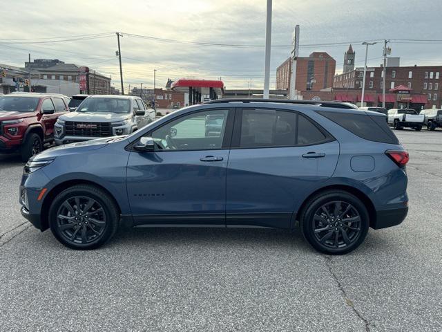
<svg viewBox="0 0 442 332">
<path fill-rule="evenodd" d="M 106 228 L 102 205 L 86 196 L 73 196 L 57 211 L 57 227 L 67 241 L 91 243 L 101 237 Z"/>
</svg>

